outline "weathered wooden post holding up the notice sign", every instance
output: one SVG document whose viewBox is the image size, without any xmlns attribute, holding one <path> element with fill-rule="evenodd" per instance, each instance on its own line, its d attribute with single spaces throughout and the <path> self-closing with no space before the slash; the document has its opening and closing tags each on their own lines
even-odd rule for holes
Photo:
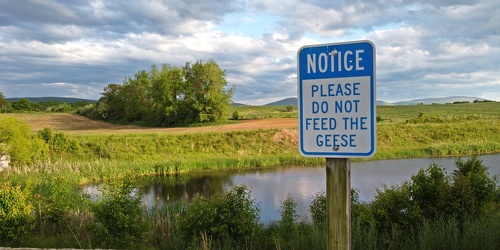
<svg viewBox="0 0 500 250">
<path fill-rule="evenodd" d="M 351 160 L 326 158 L 327 249 L 351 249 Z"/>
</svg>

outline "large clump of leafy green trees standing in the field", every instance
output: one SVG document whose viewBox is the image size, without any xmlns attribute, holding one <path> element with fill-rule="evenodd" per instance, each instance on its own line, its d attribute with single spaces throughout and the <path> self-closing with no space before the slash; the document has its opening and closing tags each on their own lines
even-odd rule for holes
<svg viewBox="0 0 500 250">
<path fill-rule="evenodd" d="M 174 126 L 220 122 L 231 103 L 225 71 L 210 60 L 183 67 L 163 64 L 140 70 L 123 84 L 109 84 L 97 104 L 78 113 L 92 119 Z"/>
</svg>

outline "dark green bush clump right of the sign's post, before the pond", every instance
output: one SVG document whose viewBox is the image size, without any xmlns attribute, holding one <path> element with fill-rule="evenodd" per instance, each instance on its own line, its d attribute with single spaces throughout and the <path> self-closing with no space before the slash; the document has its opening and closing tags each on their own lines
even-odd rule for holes
<svg viewBox="0 0 500 250">
<path fill-rule="evenodd" d="M 425 221 L 481 218 L 495 206 L 496 179 L 491 179 L 477 157 L 457 160 L 451 176 L 436 164 L 420 170 L 411 182 L 377 191 L 370 204 L 382 232 L 411 230 Z"/>
</svg>

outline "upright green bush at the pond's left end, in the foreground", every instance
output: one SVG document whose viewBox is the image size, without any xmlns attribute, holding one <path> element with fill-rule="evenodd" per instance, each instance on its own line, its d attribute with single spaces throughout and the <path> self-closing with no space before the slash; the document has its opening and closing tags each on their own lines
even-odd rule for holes
<svg viewBox="0 0 500 250">
<path fill-rule="evenodd" d="M 95 245 L 113 248 L 132 248 L 143 239 L 141 197 L 124 181 L 102 190 L 101 199 L 94 204 Z"/>
</svg>

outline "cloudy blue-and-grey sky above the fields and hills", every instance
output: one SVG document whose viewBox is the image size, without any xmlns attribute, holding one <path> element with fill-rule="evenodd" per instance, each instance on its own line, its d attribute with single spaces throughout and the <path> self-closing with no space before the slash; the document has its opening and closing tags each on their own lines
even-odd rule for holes
<svg viewBox="0 0 500 250">
<path fill-rule="evenodd" d="M 214 60 L 233 101 L 297 96 L 297 51 L 369 40 L 386 102 L 500 101 L 498 0 L 0 0 L 0 92 L 97 100 L 153 64 Z"/>
</svg>

